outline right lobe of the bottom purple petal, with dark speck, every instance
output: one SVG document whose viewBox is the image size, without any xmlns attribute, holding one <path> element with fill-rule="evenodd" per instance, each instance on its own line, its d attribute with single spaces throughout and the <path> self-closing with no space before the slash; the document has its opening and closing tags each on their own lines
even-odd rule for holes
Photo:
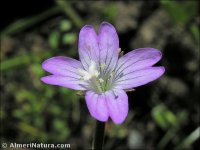
<svg viewBox="0 0 200 150">
<path fill-rule="evenodd" d="M 128 96 L 124 90 L 115 89 L 105 93 L 108 112 L 115 124 L 124 122 L 128 115 Z"/>
</svg>

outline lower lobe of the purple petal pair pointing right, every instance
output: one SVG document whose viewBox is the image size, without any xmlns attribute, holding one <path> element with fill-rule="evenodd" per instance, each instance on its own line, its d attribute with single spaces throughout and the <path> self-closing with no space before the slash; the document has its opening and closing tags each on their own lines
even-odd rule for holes
<svg viewBox="0 0 200 150">
<path fill-rule="evenodd" d="M 164 67 L 148 67 L 128 72 L 116 81 L 116 86 L 121 89 L 138 87 L 158 79 L 164 72 Z"/>
</svg>

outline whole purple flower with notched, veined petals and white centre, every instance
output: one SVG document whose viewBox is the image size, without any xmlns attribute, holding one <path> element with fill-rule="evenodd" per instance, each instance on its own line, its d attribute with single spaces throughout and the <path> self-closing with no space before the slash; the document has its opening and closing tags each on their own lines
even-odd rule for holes
<svg viewBox="0 0 200 150">
<path fill-rule="evenodd" d="M 119 38 L 108 22 L 100 25 L 98 35 L 85 25 L 79 34 L 80 61 L 69 57 L 52 57 L 42 68 L 52 75 L 42 77 L 46 84 L 85 91 L 89 112 L 106 122 L 110 117 L 121 124 L 128 115 L 126 90 L 159 78 L 164 67 L 152 67 L 162 55 L 154 48 L 138 48 L 119 57 Z"/>
</svg>

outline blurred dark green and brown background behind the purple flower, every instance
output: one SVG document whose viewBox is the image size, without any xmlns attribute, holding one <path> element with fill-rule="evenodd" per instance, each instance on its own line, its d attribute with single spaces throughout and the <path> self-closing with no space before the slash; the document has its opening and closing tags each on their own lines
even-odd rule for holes
<svg viewBox="0 0 200 150">
<path fill-rule="evenodd" d="M 78 59 L 81 27 L 112 23 L 127 53 L 153 47 L 166 73 L 128 93 L 122 125 L 106 124 L 105 149 L 197 149 L 199 143 L 199 2 L 24 1 L 2 3 L 1 141 L 70 143 L 91 148 L 95 120 L 76 91 L 45 85 L 41 63 Z M 12 11 L 11 11 L 12 10 Z"/>
</svg>

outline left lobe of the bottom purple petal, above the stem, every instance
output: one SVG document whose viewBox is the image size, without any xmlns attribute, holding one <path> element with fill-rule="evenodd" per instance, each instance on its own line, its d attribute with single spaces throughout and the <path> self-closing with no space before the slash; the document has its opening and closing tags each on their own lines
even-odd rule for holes
<svg viewBox="0 0 200 150">
<path fill-rule="evenodd" d="M 99 121 L 106 122 L 108 120 L 108 110 L 105 95 L 88 91 L 85 99 L 91 116 Z"/>
</svg>

